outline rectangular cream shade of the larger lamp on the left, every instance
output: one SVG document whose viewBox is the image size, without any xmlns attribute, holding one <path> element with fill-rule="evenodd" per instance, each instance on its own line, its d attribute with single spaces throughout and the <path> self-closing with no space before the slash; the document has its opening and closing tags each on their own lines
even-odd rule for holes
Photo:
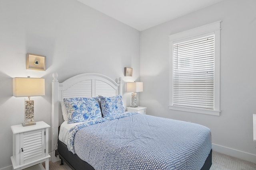
<svg viewBox="0 0 256 170">
<path fill-rule="evenodd" d="M 44 96 L 44 78 L 13 78 L 13 96 Z"/>
</svg>

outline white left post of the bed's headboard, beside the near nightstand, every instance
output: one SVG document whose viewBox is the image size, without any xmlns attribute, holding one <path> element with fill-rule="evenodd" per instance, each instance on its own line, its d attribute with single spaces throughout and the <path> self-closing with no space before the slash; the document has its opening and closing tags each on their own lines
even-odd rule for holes
<svg viewBox="0 0 256 170">
<path fill-rule="evenodd" d="M 59 126 L 59 82 L 57 80 L 58 74 L 52 74 L 52 125 L 51 125 L 51 143 L 52 143 L 52 153 L 51 161 L 57 162 L 60 160 L 58 157 L 55 157 L 55 150 L 58 143 L 58 126 Z"/>
</svg>

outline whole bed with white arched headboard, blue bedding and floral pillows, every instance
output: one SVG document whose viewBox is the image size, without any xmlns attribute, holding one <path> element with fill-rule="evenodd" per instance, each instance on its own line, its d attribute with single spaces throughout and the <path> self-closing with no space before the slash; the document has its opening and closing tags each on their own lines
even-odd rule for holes
<svg viewBox="0 0 256 170">
<path fill-rule="evenodd" d="M 85 73 L 59 83 L 57 74 L 53 77 L 52 148 L 58 149 L 52 162 L 59 156 L 76 170 L 210 169 L 212 144 L 207 127 L 126 112 L 121 78 L 116 83 L 102 74 Z M 92 110 L 88 109 L 91 104 L 97 106 L 92 117 L 86 116 L 86 121 L 76 117 L 79 114 L 64 118 L 65 106 L 70 115 L 69 105 L 84 100 L 89 103 L 87 110 Z"/>
</svg>

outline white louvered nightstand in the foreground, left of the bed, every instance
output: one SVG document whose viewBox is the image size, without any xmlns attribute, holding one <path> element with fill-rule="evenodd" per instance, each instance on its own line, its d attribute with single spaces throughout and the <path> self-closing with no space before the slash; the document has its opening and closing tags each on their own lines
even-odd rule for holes
<svg viewBox="0 0 256 170">
<path fill-rule="evenodd" d="M 50 125 L 43 121 L 36 125 L 11 126 L 13 133 L 12 166 L 14 170 L 25 168 L 44 170 L 41 162 L 45 162 L 45 170 L 49 170 L 48 128 Z"/>
</svg>

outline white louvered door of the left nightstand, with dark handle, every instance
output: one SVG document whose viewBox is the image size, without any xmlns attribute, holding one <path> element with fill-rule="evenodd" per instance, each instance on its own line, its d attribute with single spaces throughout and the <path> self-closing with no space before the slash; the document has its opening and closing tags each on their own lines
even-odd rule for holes
<svg viewBox="0 0 256 170">
<path fill-rule="evenodd" d="M 45 129 L 20 133 L 20 164 L 45 156 Z"/>
</svg>

